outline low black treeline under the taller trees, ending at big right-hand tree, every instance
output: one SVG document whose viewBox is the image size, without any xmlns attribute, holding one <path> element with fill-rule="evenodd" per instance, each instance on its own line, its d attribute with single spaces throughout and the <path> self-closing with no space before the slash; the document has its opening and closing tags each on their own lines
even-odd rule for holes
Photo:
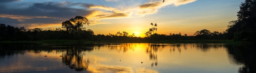
<svg viewBox="0 0 256 73">
<path fill-rule="evenodd" d="M 225 33 L 210 32 L 206 29 L 197 31 L 195 36 L 187 34 L 153 34 L 149 37 L 135 37 L 135 34 L 129 34 L 125 31 L 117 32 L 116 34 L 97 34 L 90 29 L 82 29 L 79 33 L 70 33 L 62 28 L 51 30 L 42 30 L 41 28 L 25 29 L 24 27 L 13 27 L 10 25 L 0 24 L 0 40 L 1 41 L 36 41 L 50 39 L 70 39 L 70 40 L 194 40 L 194 39 L 227 39 Z M 79 36 L 76 36 L 79 35 Z"/>
</svg>

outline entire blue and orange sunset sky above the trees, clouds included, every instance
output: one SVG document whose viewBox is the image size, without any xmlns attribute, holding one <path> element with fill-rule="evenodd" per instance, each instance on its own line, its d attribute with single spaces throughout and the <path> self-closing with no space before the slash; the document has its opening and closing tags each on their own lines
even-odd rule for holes
<svg viewBox="0 0 256 73">
<path fill-rule="evenodd" d="M 126 31 L 145 37 L 157 23 L 158 34 L 193 35 L 202 29 L 223 32 L 237 19 L 245 0 L 0 0 L 0 24 L 26 29 L 61 28 L 83 16 L 95 34 Z"/>
</svg>

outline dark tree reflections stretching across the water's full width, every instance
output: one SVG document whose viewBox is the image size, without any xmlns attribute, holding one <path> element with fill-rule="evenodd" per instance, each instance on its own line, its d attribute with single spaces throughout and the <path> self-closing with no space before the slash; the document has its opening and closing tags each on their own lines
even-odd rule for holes
<svg viewBox="0 0 256 73">
<path fill-rule="evenodd" d="M 90 47 L 81 47 L 81 46 L 74 46 L 74 47 L 54 47 L 48 45 L 36 45 L 36 46 L 26 46 L 23 47 L 23 44 L 0 44 L 0 59 L 13 56 L 13 55 L 23 55 L 24 53 L 35 53 L 39 54 L 41 52 L 54 52 L 60 54 L 62 53 L 62 62 L 66 66 L 75 71 L 84 71 L 87 70 L 90 64 L 90 59 L 86 58 L 86 52 L 92 51 L 93 49 L 100 50 L 100 48 L 108 48 L 109 50 L 115 50 L 117 52 L 127 52 L 130 50 L 134 50 L 136 45 L 139 44 L 105 44 L 105 45 L 90 45 Z M 158 57 L 157 54 L 159 51 L 162 51 L 165 47 L 170 47 L 170 52 L 178 51 L 182 53 L 182 48 L 184 50 L 191 48 L 196 48 L 202 52 L 208 52 L 211 49 L 215 48 L 223 48 L 227 50 L 228 58 L 230 63 L 233 65 L 243 65 L 238 69 L 239 73 L 255 73 L 255 46 L 248 45 L 248 44 L 240 44 L 240 45 L 223 45 L 223 44 L 148 44 L 148 46 L 143 47 L 145 48 L 145 52 L 149 55 L 149 59 L 151 62 L 151 67 L 157 67 L 158 64 Z M 26 52 L 27 51 L 27 52 Z M 143 62 L 144 63 L 144 62 Z M 145 62 L 146 63 L 146 62 Z M 105 66 L 106 68 L 102 69 L 109 69 L 109 65 Z M 114 66 L 111 66 L 114 67 Z M 115 67 L 113 69 L 116 69 Z M 126 69 L 125 67 L 120 68 L 118 70 Z M 117 71 L 117 70 L 113 70 Z"/>
</svg>

